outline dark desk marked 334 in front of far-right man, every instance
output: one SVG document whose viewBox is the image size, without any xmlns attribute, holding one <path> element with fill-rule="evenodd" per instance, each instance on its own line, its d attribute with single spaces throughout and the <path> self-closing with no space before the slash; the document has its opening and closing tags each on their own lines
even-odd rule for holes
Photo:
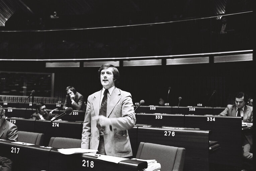
<svg viewBox="0 0 256 171">
<path fill-rule="evenodd" d="M 211 130 L 210 140 L 221 148 L 210 156 L 210 162 L 231 166 L 241 165 L 242 117 L 185 115 L 185 127 Z"/>
</svg>

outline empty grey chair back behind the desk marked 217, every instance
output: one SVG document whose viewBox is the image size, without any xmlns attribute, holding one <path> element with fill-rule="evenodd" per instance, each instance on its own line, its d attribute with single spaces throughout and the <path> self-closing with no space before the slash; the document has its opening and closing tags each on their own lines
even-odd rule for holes
<svg viewBox="0 0 256 171">
<path fill-rule="evenodd" d="M 44 136 L 42 133 L 18 131 L 18 141 L 24 143 L 43 145 Z"/>
</svg>

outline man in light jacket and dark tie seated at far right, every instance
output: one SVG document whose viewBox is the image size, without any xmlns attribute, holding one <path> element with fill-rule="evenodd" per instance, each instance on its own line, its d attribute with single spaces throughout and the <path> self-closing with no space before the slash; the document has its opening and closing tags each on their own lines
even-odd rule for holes
<svg viewBox="0 0 256 171">
<path fill-rule="evenodd" d="M 235 99 L 235 105 L 228 105 L 227 108 L 219 114 L 219 116 L 232 116 L 232 117 L 243 117 L 242 125 L 246 125 L 248 128 L 253 126 L 253 108 L 245 105 L 248 97 L 245 93 L 240 92 Z M 252 142 L 248 142 L 247 137 L 244 137 L 242 143 L 243 157 L 248 160 L 252 160 L 253 154 L 251 151 Z"/>
</svg>

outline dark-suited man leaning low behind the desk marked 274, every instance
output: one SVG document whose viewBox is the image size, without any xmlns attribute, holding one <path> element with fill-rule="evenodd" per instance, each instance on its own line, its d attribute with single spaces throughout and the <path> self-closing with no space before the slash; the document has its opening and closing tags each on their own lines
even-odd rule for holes
<svg viewBox="0 0 256 171">
<path fill-rule="evenodd" d="M 48 113 L 46 111 L 45 104 L 42 102 L 37 103 L 35 109 L 36 109 L 36 112 L 33 113 L 31 116 L 32 119 L 52 121 L 57 117 L 55 114 L 52 114 L 52 112 Z M 58 120 L 62 121 L 61 119 L 58 119 Z"/>
</svg>

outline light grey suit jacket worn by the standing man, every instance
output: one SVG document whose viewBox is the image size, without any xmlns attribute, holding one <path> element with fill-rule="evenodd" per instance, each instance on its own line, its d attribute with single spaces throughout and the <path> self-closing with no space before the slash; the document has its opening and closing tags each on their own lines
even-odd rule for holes
<svg viewBox="0 0 256 171">
<path fill-rule="evenodd" d="M 101 91 L 88 97 L 87 108 L 83 124 L 81 148 L 98 149 L 99 130 L 96 127 Z M 132 156 L 132 148 L 128 129 L 136 123 L 131 94 L 114 88 L 107 105 L 107 118 L 111 120 L 112 131 L 105 127 L 104 143 L 107 155 L 116 157 Z"/>
</svg>

